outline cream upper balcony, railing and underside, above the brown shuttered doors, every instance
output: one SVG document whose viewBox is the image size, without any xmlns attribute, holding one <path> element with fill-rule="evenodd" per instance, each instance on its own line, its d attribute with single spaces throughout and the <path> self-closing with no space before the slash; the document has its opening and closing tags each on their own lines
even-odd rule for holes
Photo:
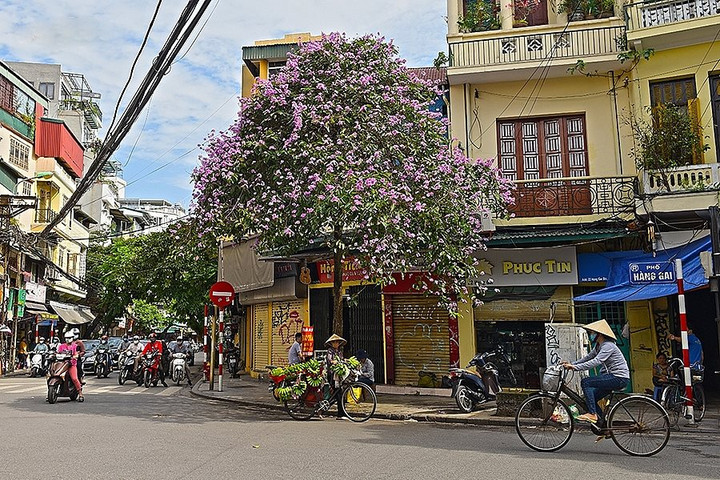
<svg viewBox="0 0 720 480">
<path fill-rule="evenodd" d="M 590 22 L 583 23 L 586 26 Z M 533 29 L 522 35 L 499 30 L 475 34 L 480 35 L 478 38 L 465 35 L 461 41 L 450 40 L 448 74 L 462 74 L 463 69 L 485 73 L 517 71 L 535 68 L 552 58 L 558 72 L 567 75 L 567 67 L 580 59 L 586 63 L 618 63 L 617 54 L 625 49 L 624 25 L 603 23 L 602 27 L 572 29 L 544 26 L 528 30 Z M 510 79 L 494 77 L 492 81 Z"/>
</svg>

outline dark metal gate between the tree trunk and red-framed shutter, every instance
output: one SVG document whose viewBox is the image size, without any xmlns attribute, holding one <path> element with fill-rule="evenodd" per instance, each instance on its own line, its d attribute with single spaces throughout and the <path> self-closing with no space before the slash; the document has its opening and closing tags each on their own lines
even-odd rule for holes
<svg viewBox="0 0 720 480">
<path fill-rule="evenodd" d="M 348 341 L 346 354 L 355 355 L 359 349 L 368 352 L 375 365 L 375 382 L 385 383 L 385 352 L 383 347 L 382 296 L 377 285 L 348 288 L 354 306 L 343 309 L 344 337 Z"/>
</svg>

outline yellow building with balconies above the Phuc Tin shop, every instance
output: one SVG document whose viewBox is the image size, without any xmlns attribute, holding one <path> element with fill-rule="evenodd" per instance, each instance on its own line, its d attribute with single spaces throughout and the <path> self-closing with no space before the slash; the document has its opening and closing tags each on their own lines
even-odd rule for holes
<svg viewBox="0 0 720 480">
<path fill-rule="evenodd" d="M 718 202 L 717 5 L 591 0 L 558 3 L 568 7 L 557 11 L 545 0 L 529 10 L 520 3 L 483 0 L 447 5 L 452 136 L 470 157 L 496 159 L 517 185 L 514 217 L 496 219 L 489 242 L 499 291 L 490 292 L 473 315 L 461 317 L 461 325 L 474 322 L 477 332 L 474 348 L 464 351 L 505 345 L 516 374 L 524 377 L 522 386 L 533 387 L 546 359 L 544 349 L 529 352 L 544 340 L 544 322 L 606 317 L 618 332 L 629 324 L 630 338 L 621 348 L 631 360 L 633 388 L 642 391 L 651 386 L 654 354 L 669 349 L 664 335 L 672 329 L 674 297 L 583 303 L 574 298 L 608 281 L 607 271 L 604 277 L 587 274 L 597 260 L 593 255 L 642 255 L 643 249 L 688 243 L 691 234 L 666 233 L 673 242 L 655 245 L 663 230 L 701 227 L 707 215 L 695 212 Z M 631 58 L 631 51 L 642 57 L 649 49 L 654 54 L 648 60 Z M 636 167 L 631 123 L 644 118 L 652 124 L 646 107 L 661 103 L 689 104 L 709 148 L 695 159 L 700 165 L 673 173 L 676 191 L 654 195 L 656 175 Z M 649 220 L 654 224 L 646 227 Z M 649 232 L 658 237 L 648 240 Z M 569 253 L 576 256 L 574 280 L 558 280 L 549 271 L 515 279 L 498 273 L 503 259 L 527 255 L 528 264 L 542 264 L 563 248 L 574 250 Z M 716 330 L 708 327 L 704 336 L 716 341 Z M 461 354 L 461 362 L 466 360 Z"/>
</svg>

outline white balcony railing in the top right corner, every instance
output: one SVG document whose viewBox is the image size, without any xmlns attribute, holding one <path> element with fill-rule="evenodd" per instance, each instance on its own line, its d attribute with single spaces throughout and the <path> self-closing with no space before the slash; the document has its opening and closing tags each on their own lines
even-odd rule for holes
<svg viewBox="0 0 720 480">
<path fill-rule="evenodd" d="M 720 15 L 720 0 L 652 0 L 625 5 L 628 30 Z"/>
</svg>

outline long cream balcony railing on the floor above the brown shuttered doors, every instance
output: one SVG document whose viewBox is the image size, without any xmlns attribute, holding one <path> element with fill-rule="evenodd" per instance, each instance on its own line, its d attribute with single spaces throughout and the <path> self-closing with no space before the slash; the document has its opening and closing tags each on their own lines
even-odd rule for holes
<svg viewBox="0 0 720 480">
<path fill-rule="evenodd" d="M 450 66 L 471 67 L 549 58 L 587 58 L 625 49 L 625 27 L 542 32 L 450 44 Z"/>
</svg>

